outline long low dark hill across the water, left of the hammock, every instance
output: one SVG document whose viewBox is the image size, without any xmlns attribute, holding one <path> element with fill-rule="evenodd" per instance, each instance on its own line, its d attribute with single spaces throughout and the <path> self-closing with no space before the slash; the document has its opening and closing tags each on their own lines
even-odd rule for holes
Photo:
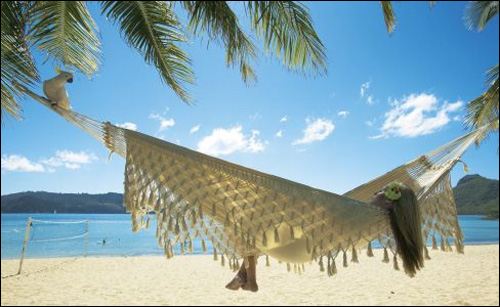
<svg viewBox="0 0 500 307">
<path fill-rule="evenodd" d="M 22 192 L 2 196 L 2 213 L 125 213 L 123 194 Z"/>
</svg>

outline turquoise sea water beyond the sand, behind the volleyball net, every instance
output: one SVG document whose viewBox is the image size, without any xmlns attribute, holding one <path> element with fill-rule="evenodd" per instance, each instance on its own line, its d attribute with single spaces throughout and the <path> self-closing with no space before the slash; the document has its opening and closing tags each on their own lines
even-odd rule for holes
<svg viewBox="0 0 500 307">
<path fill-rule="evenodd" d="M 89 245 L 85 247 L 86 223 L 47 224 L 34 222 L 27 258 L 82 256 L 163 255 L 155 238 L 155 223 L 150 229 L 132 233 L 130 215 L 126 214 L 35 214 L 44 221 L 89 221 Z M 19 258 L 28 214 L 2 214 L 1 259 Z M 498 244 L 498 221 L 484 221 L 481 216 L 460 216 L 465 244 Z M 65 239 L 73 238 L 73 239 Z M 61 240 L 60 240 L 61 239 Z M 105 240 L 105 244 L 103 244 Z M 207 242 L 208 243 L 208 242 Z M 194 253 L 201 254 L 201 243 L 193 242 Z M 207 248 L 211 246 L 207 244 Z M 176 250 L 178 254 L 179 251 Z"/>
</svg>

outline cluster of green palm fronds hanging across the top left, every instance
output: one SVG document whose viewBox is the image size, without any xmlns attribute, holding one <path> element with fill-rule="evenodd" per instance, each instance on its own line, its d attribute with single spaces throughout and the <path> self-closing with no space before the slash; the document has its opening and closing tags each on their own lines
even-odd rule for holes
<svg viewBox="0 0 500 307">
<path fill-rule="evenodd" d="M 222 44 L 226 65 L 239 67 L 246 83 L 256 81 L 252 68 L 258 48 L 242 30 L 226 1 L 98 1 L 100 12 L 118 25 L 123 39 L 145 62 L 154 65 L 161 79 L 186 103 L 192 102 L 186 86 L 194 83 L 188 54 L 182 47 L 188 35 L 206 35 Z M 175 10 L 187 13 L 184 27 Z M 307 8 L 293 1 L 245 1 L 243 9 L 254 36 L 266 55 L 281 59 L 293 71 L 326 73 L 326 51 L 313 28 Z M 18 83 L 33 87 L 40 82 L 34 49 L 91 76 L 101 59 L 97 26 L 85 1 L 1 2 L 2 121 L 8 114 L 19 118 Z M 185 30 L 186 28 L 186 30 Z"/>
</svg>

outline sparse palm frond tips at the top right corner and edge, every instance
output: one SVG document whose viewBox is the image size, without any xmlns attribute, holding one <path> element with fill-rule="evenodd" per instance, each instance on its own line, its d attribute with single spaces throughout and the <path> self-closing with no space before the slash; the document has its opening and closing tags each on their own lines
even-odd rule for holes
<svg viewBox="0 0 500 307">
<path fill-rule="evenodd" d="M 430 1 L 433 7 L 436 1 Z M 396 28 L 396 17 L 391 1 L 380 1 L 387 31 L 392 33 Z M 498 15 L 498 1 L 470 1 L 464 16 L 466 26 L 470 30 L 481 32 L 488 22 Z M 479 128 L 488 125 L 488 129 L 476 141 L 479 145 L 490 133 L 498 131 L 498 64 L 486 71 L 488 90 L 467 104 L 465 125 Z"/>
</svg>

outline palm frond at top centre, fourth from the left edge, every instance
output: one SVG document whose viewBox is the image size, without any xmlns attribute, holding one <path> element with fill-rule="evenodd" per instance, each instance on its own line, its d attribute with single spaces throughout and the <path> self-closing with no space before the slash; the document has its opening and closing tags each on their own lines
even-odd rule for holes
<svg viewBox="0 0 500 307">
<path fill-rule="evenodd" d="M 250 61 L 256 58 L 256 47 L 241 30 L 229 5 L 225 1 L 183 1 L 182 5 L 188 12 L 190 31 L 221 42 L 226 49 L 226 65 L 239 65 L 243 80 L 255 81 Z"/>
</svg>

